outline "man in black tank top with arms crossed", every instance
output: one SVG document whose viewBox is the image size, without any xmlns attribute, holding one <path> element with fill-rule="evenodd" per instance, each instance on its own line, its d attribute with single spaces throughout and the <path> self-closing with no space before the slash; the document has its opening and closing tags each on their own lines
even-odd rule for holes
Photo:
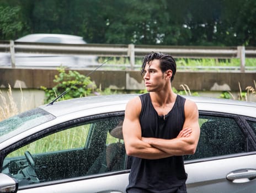
<svg viewBox="0 0 256 193">
<path fill-rule="evenodd" d="M 172 56 L 148 54 L 141 74 L 149 93 L 127 103 L 123 124 L 132 156 L 127 192 L 186 192 L 183 155 L 194 154 L 200 127 L 196 104 L 172 90 Z"/>
</svg>

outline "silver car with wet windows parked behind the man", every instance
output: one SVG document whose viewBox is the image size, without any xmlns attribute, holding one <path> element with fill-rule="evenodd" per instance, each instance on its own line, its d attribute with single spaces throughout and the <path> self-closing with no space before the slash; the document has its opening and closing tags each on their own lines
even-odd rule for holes
<svg viewBox="0 0 256 193">
<path fill-rule="evenodd" d="M 125 192 L 130 158 L 122 139 L 134 94 L 40 106 L 0 122 L 0 192 Z M 191 97 L 200 112 L 188 192 L 254 192 L 256 104 Z"/>
</svg>

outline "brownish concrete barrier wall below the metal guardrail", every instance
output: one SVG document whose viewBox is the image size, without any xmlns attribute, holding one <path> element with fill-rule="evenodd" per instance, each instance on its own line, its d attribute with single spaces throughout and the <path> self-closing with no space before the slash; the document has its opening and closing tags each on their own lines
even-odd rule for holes
<svg viewBox="0 0 256 193">
<path fill-rule="evenodd" d="M 77 70 L 81 74 L 90 71 Z M 56 69 L 24 69 L 24 68 L 0 68 L 0 88 L 40 89 L 54 87 L 54 76 L 58 74 Z M 90 74 L 90 79 L 102 89 L 111 88 L 118 90 L 143 90 L 143 79 L 139 71 L 97 71 Z M 194 91 L 239 91 L 256 81 L 256 73 L 241 72 L 177 72 L 173 81 L 173 87 L 177 90 L 181 84 L 186 84 Z"/>
</svg>

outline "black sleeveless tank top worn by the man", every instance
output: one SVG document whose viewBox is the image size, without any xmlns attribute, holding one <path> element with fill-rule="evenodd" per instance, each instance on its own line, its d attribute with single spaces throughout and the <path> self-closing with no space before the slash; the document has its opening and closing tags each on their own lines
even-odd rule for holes
<svg viewBox="0 0 256 193">
<path fill-rule="evenodd" d="M 140 95 L 140 99 L 142 103 L 140 114 L 142 137 L 164 139 L 177 137 L 185 121 L 185 98 L 177 95 L 172 110 L 165 116 L 157 114 L 149 93 Z M 127 192 L 186 192 L 187 176 L 182 156 L 163 159 L 132 157 L 131 164 Z M 183 190 L 179 191 L 180 188 Z"/>
</svg>

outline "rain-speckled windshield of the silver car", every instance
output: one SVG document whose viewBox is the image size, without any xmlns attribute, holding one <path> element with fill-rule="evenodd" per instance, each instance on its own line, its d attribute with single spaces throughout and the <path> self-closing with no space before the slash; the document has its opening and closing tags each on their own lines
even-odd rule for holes
<svg viewBox="0 0 256 193">
<path fill-rule="evenodd" d="M 12 116 L 0 122 L 0 142 L 53 119 L 54 115 L 39 108 Z"/>
</svg>

